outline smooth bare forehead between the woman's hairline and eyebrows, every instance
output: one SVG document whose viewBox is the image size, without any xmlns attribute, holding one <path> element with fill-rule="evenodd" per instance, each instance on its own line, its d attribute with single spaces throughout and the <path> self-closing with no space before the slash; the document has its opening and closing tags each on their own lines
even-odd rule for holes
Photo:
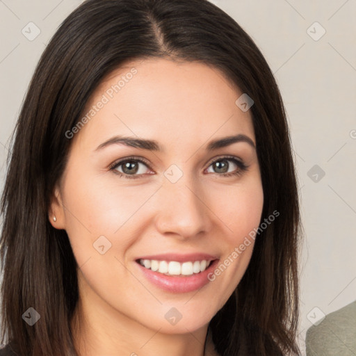
<svg viewBox="0 0 356 356">
<path fill-rule="evenodd" d="M 114 134 L 152 138 L 162 145 L 236 133 L 254 140 L 250 111 L 235 104 L 242 94 L 215 67 L 136 60 L 99 84 L 82 114 L 90 120 L 76 136 L 93 145 Z"/>
</svg>

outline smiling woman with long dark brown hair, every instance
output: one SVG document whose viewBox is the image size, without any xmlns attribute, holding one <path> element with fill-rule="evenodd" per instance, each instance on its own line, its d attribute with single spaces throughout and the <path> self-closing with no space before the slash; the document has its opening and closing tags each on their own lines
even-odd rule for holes
<svg viewBox="0 0 356 356">
<path fill-rule="evenodd" d="M 284 106 L 208 1 L 89 0 L 65 19 L 19 115 L 1 211 L 6 352 L 299 353 Z"/>
</svg>

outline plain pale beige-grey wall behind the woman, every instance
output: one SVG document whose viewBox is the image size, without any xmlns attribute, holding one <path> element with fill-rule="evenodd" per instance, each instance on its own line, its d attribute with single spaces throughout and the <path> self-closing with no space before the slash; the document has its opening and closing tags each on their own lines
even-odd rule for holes
<svg viewBox="0 0 356 356">
<path fill-rule="evenodd" d="M 305 229 L 300 259 L 304 349 L 312 323 L 356 299 L 356 1 L 212 2 L 259 46 L 288 113 Z M 79 3 L 0 0 L 1 191 L 8 138 L 35 65 Z M 40 30 L 33 40 L 36 29 L 29 22 Z"/>
</svg>

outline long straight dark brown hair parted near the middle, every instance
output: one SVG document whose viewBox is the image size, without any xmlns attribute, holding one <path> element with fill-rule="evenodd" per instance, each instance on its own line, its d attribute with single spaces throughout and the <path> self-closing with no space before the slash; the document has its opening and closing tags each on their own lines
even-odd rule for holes
<svg viewBox="0 0 356 356">
<path fill-rule="evenodd" d="M 220 355 L 298 355 L 298 188 L 286 113 L 273 73 L 241 26 L 206 0 L 88 0 L 47 45 L 15 127 L 1 199 L 2 340 L 20 355 L 77 355 L 70 327 L 77 264 L 49 203 L 90 95 L 131 60 L 169 58 L 217 68 L 247 93 L 264 190 L 250 264 L 210 323 Z M 237 98 L 237 97 L 236 97 Z M 33 307 L 40 322 L 22 314 Z"/>
</svg>

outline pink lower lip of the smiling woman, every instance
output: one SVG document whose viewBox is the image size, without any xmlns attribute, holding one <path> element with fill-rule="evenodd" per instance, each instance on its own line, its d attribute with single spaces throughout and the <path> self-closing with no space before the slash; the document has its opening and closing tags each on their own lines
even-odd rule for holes
<svg viewBox="0 0 356 356">
<path fill-rule="evenodd" d="M 218 259 L 212 261 L 210 266 L 200 273 L 194 273 L 193 275 L 188 275 L 186 277 L 175 277 L 170 275 L 163 275 L 159 272 L 154 272 L 140 265 L 140 263 L 135 262 L 140 270 L 142 270 L 143 275 L 152 282 L 154 285 L 159 286 L 165 291 L 170 291 L 172 293 L 187 293 L 191 291 L 196 291 L 201 289 L 203 286 L 211 282 L 208 279 L 209 273 L 211 273 L 216 264 L 218 264 Z"/>
</svg>

